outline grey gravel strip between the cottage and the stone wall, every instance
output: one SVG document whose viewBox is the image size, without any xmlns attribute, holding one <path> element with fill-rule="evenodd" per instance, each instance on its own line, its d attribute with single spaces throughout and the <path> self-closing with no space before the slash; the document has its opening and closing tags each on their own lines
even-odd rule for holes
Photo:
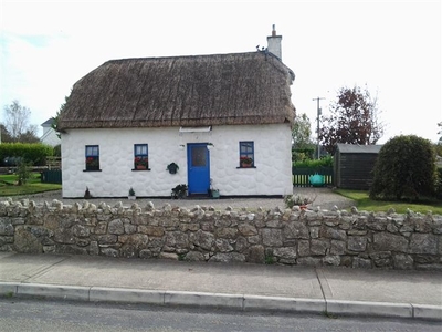
<svg viewBox="0 0 442 332">
<path fill-rule="evenodd" d="M 338 194 L 335 194 L 330 188 L 302 188 L 295 187 L 293 190 L 294 195 L 301 195 L 303 197 L 315 198 L 315 200 L 308 205 L 308 208 L 314 209 L 316 207 L 320 207 L 320 209 L 330 210 L 334 206 L 337 206 L 339 209 L 347 209 L 352 206 L 352 200 L 345 198 Z M 30 199 L 35 201 L 38 205 L 44 204 L 44 201 L 51 203 L 53 199 L 57 199 L 63 201 L 66 205 L 72 205 L 74 203 L 82 203 L 84 199 L 64 199 L 62 197 L 62 191 L 50 191 L 43 194 L 35 195 L 27 195 L 27 196 L 18 196 L 13 197 L 14 200 L 20 199 Z M 1 198 L 0 198 L 1 200 Z M 130 206 L 134 201 L 127 199 L 126 197 L 122 198 L 92 198 L 88 201 L 98 205 L 104 201 L 107 205 L 114 206 L 118 201 L 122 201 L 124 206 Z M 166 204 L 170 204 L 173 207 L 186 207 L 191 208 L 196 205 L 206 206 L 206 207 L 214 207 L 215 209 L 225 209 L 228 206 L 240 209 L 256 209 L 262 207 L 264 209 L 273 209 L 275 207 L 284 208 L 284 200 L 282 198 L 220 198 L 220 199 L 197 199 L 197 198 L 186 198 L 186 199 L 170 199 L 170 198 L 137 198 L 136 203 L 140 207 L 145 207 L 148 201 L 154 203 L 156 208 L 160 208 Z"/>
</svg>

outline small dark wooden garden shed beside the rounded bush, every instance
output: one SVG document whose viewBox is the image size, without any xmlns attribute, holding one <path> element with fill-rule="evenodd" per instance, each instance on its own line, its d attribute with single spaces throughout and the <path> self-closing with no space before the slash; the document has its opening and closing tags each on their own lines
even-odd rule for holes
<svg viewBox="0 0 442 332">
<path fill-rule="evenodd" d="M 338 143 L 334 158 L 335 186 L 343 189 L 369 189 L 381 147 Z"/>
</svg>

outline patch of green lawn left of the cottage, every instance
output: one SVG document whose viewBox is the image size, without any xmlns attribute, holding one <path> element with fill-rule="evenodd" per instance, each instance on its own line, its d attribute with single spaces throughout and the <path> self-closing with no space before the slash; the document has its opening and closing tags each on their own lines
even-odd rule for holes
<svg viewBox="0 0 442 332">
<path fill-rule="evenodd" d="M 0 175 L 0 197 L 38 194 L 62 188 L 62 185 L 42 184 L 40 173 L 32 173 L 28 183 L 23 186 L 18 186 L 17 179 L 14 174 Z"/>
</svg>

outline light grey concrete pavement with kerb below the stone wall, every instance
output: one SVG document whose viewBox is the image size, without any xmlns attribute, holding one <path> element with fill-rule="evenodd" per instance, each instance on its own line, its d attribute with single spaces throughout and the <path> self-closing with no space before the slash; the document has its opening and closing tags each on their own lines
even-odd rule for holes
<svg viewBox="0 0 442 332">
<path fill-rule="evenodd" d="M 442 272 L 0 252 L 0 295 L 442 321 Z"/>
</svg>

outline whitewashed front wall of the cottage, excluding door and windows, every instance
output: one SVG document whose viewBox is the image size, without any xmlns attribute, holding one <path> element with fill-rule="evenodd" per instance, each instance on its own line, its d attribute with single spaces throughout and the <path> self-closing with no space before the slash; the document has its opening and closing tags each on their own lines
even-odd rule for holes
<svg viewBox="0 0 442 332">
<path fill-rule="evenodd" d="M 254 142 L 256 168 L 239 167 L 239 142 Z M 169 128 L 74 129 L 62 135 L 63 197 L 170 196 L 187 184 L 187 144 L 212 143 L 210 178 L 221 196 L 288 195 L 292 187 L 291 127 L 278 125 L 214 126 L 209 133 Z M 148 144 L 149 168 L 134 168 L 134 144 Z M 85 146 L 99 145 L 102 172 L 84 172 Z M 183 149 L 180 145 L 185 145 Z M 166 167 L 177 163 L 177 174 Z"/>
</svg>

